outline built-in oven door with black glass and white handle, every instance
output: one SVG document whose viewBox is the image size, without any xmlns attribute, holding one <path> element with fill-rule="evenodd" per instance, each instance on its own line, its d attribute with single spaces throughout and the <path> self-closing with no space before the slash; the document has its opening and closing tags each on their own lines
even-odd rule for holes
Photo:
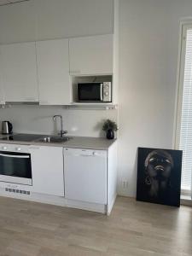
<svg viewBox="0 0 192 256">
<path fill-rule="evenodd" d="M 31 154 L 0 151 L 0 182 L 32 185 Z"/>
</svg>

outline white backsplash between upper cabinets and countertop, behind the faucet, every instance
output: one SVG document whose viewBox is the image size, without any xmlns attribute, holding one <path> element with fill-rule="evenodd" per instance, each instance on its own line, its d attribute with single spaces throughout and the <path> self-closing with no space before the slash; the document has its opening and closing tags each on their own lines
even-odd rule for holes
<svg viewBox="0 0 192 256">
<path fill-rule="evenodd" d="M 60 130 L 60 120 L 53 116 L 61 114 L 63 128 L 68 135 L 82 137 L 104 137 L 103 119 L 117 121 L 117 110 L 65 109 L 62 107 L 18 105 L 0 109 L 0 121 L 9 120 L 14 132 L 55 134 Z M 0 124 L 0 127 L 2 125 Z M 2 128 L 0 128 L 2 129 Z M 0 130 L 1 131 L 1 130 Z"/>
</svg>

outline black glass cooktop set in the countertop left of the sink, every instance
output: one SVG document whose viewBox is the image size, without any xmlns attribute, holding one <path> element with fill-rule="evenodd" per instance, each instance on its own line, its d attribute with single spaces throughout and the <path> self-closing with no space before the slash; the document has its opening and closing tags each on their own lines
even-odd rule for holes
<svg viewBox="0 0 192 256">
<path fill-rule="evenodd" d="M 12 134 L 6 137 L 3 137 L 3 141 L 20 141 L 20 142 L 32 142 L 38 138 L 44 137 L 44 135 L 39 134 Z"/>
</svg>

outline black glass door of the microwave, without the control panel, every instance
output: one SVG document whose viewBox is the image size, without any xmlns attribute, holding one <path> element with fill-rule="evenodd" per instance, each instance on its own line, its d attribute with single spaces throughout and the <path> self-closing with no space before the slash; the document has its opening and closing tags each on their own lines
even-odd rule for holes
<svg viewBox="0 0 192 256">
<path fill-rule="evenodd" d="M 84 83 L 78 84 L 79 102 L 102 102 L 103 84 L 102 83 Z"/>
</svg>

